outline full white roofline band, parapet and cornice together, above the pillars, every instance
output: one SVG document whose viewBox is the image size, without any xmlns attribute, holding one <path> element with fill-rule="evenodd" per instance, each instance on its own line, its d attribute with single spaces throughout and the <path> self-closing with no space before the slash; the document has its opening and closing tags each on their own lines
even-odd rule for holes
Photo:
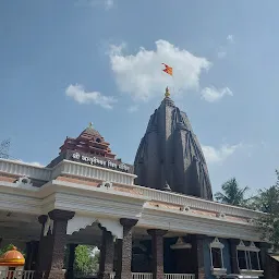
<svg viewBox="0 0 279 279">
<path fill-rule="evenodd" d="M 1 210 L 41 215 L 53 209 L 63 209 L 92 218 L 140 218 L 136 226 L 146 229 L 158 228 L 219 238 L 238 235 L 248 241 L 260 241 L 260 233 L 255 230 L 255 223 L 247 220 L 263 216 L 262 213 L 133 185 L 134 175 L 130 173 L 72 161 L 62 161 L 53 169 L 48 169 L 2 159 L 0 171 L 28 177 L 31 180 L 71 174 L 100 180 L 104 185 L 107 181 L 112 183 L 112 187 L 107 189 L 85 185 L 82 180 L 80 183 L 52 180 L 41 187 L 19 187 L 16 183 L 0 181 Z M 121 187 L 129 191 L 118 191 Z M 148 201 L 157 201 L 171 207 L 151 207 L 146 203 Z M 226 216 L 216 217 L 219 213 Z M 230 216 L 233 218 L 230 219 Z"/>
</svg>

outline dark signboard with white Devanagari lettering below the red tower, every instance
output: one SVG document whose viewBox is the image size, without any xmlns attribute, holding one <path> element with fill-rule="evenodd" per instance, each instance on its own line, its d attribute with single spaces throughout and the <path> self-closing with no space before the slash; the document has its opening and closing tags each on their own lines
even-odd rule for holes
<svg viewBox="0 0 279 279">
<path fill-rule="evenodd" d="M 132 166 L 125 165 L 118 160 L 111 160 L 106 157 L 101 157 L 101 158 L 96 157 L 96 156 L 89 157 L 87 155 L 83 155 L 80 153 L 73 153 L 71 157 L 74 160 L 87 162 L 89 165 L 95 165 L 95 166 L 99 166 L 99 167 L 104 167 L 104 168 L 114 169 L 114 170 L 119 170 L 119 171 L 123 171 L 123 172 L 132 172 L 133 171 Z"/>
</svg>

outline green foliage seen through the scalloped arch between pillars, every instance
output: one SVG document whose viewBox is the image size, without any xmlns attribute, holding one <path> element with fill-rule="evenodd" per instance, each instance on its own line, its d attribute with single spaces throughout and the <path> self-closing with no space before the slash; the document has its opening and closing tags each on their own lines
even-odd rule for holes
<svg viewBox="0 0 279 279">
<path fill-rule="evenodd" d="M 90 274 L 98 270 L 99 253 L 93 254 L 93 248 L 88 245 L 78 245 L 75 248 L 74 268 L 76 272 Z"/>
</svg>

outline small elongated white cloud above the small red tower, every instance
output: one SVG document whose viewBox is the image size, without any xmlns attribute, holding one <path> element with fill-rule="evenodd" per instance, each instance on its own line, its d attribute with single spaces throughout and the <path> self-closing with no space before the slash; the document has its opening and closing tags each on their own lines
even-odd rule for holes
<svg viewBox="0 0 279 279">
<path fill-rule="evenodd" d="M 117 102 L 113 96 L 105 96 L 99 92 L 85 92 L 80 84 L 69 85 L 65 95 L 72 97 L 78 104 L 95 104 L 105 109 L 112 109 L 113 104 Z"/>
</svg>

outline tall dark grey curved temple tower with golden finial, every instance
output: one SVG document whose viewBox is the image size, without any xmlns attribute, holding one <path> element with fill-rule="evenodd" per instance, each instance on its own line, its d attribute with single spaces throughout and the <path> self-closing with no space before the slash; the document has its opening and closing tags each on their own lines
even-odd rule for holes
<svg viewBox="0 0 279 279">
<path fill-rule="evenodd" d="M 167 87 L 137 149 L 136 184 L 213 199 L 202 147 L 186 113 L 169 96 Z"/>
</svg>

